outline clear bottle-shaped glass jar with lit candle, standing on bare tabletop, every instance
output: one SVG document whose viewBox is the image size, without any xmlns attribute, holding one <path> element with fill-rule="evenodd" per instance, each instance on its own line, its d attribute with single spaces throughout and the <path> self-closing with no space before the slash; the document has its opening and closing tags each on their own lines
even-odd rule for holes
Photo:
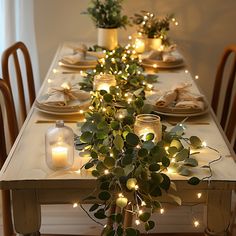
<svg viewBox="0 0 236 236">
<path fill-rule="evenodd" d="M 46 163 L 53 170 L 69 169 L 74 162 L 74 133 L 64 125 L 63 120 L 56 121 L 45 135 Z"/>
</svg>

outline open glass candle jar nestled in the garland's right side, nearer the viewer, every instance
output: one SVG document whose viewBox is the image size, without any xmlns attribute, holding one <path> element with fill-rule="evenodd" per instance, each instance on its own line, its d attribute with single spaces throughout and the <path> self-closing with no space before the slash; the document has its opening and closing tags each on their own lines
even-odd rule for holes
<svg viewBox="0 0 236 236">
<path fill-rule="evenodd" d="M 162 136 L 160 117 L 153 114 L 137 115 L 134 123 L 134 133 L 144 140 L 146 140 L 147 134 L 153 133 L 154 142 L 159 142 Z"/>
</svg>

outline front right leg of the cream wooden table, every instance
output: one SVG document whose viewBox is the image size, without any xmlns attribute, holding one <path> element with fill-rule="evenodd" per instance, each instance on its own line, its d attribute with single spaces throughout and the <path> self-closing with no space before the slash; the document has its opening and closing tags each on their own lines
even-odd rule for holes
<svg viewBox="0 0 236 236">
<path fill-rule="evenodd" d="M 228 235 L 231 213 L 231 190 L 209 190 L 206 235 Z"/>
</svg>

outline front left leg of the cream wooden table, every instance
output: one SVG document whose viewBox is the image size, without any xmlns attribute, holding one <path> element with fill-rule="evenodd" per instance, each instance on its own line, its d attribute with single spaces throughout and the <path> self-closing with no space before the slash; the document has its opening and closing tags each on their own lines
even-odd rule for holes
<svg viewBox="0 0 236 236">
<path fill-rule="evenodd" d="M 13 190 L 12 205 L 15 230 L 23 235 L 40 235 L 41 209 L 34 190 Z"/>
</svg>

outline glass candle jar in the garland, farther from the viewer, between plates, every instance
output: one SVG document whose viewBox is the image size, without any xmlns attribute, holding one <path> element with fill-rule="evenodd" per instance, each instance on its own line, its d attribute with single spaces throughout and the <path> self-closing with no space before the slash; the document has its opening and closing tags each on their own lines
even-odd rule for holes
<svg viewBox="0 0 236 236">
<path fill-rule="evenodd" d="M 99 74 L 94 76 L 93 90 L 106 90 L 110 91 L 111 86 L 116 86 L 116 78 L 110 74 Z"/>
</svg>

